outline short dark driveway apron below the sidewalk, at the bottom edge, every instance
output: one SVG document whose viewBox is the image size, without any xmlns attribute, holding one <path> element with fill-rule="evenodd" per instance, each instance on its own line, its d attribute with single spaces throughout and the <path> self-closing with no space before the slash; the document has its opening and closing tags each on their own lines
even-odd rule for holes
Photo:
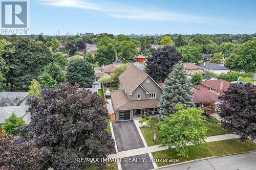
<svg viewBox="0 0 256 170">
<path fill-rule="evenodd" d="M 154 169 L 153 164 L 150 162 L 148 154 L 132 156 L 121 159 L 122 170 L 148 170 Z"/>
</svg>

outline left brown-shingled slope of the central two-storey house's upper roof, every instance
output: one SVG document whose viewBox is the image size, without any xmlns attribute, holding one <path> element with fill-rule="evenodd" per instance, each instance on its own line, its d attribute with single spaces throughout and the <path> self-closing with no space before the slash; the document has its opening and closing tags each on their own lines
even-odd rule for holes
<svg viewBox="0 0 256 170">
<path fill-rule="evenodd" d="M 118 79 L 122 83 L 126 93 L 130 95 L 147 77 L 148 74 L 146 72 L 131 64 L 123 71 Z"/>
</svg>

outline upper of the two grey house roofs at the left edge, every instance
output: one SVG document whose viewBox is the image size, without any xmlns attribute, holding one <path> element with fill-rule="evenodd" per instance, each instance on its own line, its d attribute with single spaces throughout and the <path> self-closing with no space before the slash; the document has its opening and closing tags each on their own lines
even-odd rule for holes
<svg viewBox="0 0 256 170">
<path fill-rule="evenodd" d="M 0 107 L 24 106 L 29 98 L 28 92 L 3 91 L 0 92 Z"/>
</svg>

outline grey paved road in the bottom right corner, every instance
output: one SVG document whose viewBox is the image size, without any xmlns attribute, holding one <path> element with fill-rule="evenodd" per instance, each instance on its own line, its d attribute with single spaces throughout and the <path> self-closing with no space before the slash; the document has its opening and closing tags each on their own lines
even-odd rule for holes
<svg viewBox="0 0 256 170">
<path fill-rule="evenodd" d="M 161 170 L 255 170 L 256 152 L 211 158 L 176 166 L 159 168 Z"/>
</svg>

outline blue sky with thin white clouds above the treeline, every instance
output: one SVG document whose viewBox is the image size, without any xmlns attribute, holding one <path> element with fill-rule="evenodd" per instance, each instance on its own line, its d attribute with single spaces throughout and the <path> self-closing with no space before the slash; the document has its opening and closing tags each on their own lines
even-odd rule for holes
<svg viewBox="0 0 256 170">
<path fill-rule="evenodd" d="M 30 0 L 30 34 L 253 34 L 254 0 Z"/>
</svg>

